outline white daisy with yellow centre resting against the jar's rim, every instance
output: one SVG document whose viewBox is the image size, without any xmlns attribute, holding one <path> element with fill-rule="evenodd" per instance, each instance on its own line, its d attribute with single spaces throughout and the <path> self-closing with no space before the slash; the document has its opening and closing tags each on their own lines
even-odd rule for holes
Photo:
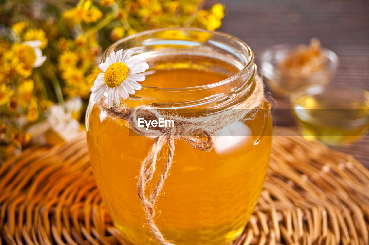
<svg viewBox="0 0 369 245">
<path fill-rule="evenodd" d="M 143 58 L 133 58 L 128 61 L 133 54 L 133 50 L 127 50 L 122 54 L 123 49 L 117 53 L 114 51 L 106 57 L 105 63 L 101 63 L 101 72 L 91 88 L 92 101 L 96 102 L 107 92 L 107 103 L 110 107 L 113 102 L 120 104 L 120 97 L 128 98 L 136 90 L 141 89 L 138 82 L 145 80 L 145 76 L 139 74 L 149 68 Z"/>
</svg>

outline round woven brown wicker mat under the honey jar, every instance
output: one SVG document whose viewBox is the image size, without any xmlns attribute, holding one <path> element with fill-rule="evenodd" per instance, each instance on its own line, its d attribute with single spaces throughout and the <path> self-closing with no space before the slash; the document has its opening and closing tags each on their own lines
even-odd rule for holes
<svg viewBox="0 0 369 245">
<path fill-rule="evenodd" d="M 369 171 L 277 128 L 258 206 L 234 245 L 369 244 Z M 0 167 L 0 244 L 130 244 L 101 201 L 86 137 Z"/>
</svg>

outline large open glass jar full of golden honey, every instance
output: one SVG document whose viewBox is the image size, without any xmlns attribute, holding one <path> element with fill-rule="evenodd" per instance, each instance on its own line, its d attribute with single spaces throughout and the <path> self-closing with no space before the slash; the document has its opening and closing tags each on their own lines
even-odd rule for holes
<svg viewBox="0 0 369 245">
<path fill-rule="evenodd" d="M 216 114 L 243 102 L 256 85 L 251 49 L 224 33 L 196 28 L 145 31 L 118 40 L 103 57 L 120 49 L 134 49 L 132 57 L 145 57 L 150 67 L 141 90 L 121 99 L 132 108 L 151 105 L 185 117 Z M 228 244 L 241 234 L 265 181 L 272 140 L 269 103 L 251 114 L 226 125 L 210 151 L 194 149 L 182 139 L 175 142 L 154 217 L 166 239 L 175 244 Z M 115 226 L 135 245 L 158 244 L 145 225 L 137 195 L 139 168 L 154 140 L 135 135 L 127 121 L 107 116 L 97 105 L 86 115 L 86 126 L 93 172 Z M 161 176 L 165 151 L 147 195 Z"/>
</svg>

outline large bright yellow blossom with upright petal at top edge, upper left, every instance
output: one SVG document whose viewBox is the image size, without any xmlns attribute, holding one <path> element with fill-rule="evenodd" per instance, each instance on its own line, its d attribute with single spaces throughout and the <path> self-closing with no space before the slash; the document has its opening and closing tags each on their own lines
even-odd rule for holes
<svg viewBox="0 0 369 245">
<path fill-rule="evenodd" d="M 63 17 L 66 19 L 71 19 L 73 22 L 80 23 L 81 21 L 86 24 L 96 22 L 98 19 L 103 17 L 103 13 L 96 7 L 91 6 L 91 1 L 87 0 L 85 3 L 67 10 L 63 13 Z"/>
</svg>

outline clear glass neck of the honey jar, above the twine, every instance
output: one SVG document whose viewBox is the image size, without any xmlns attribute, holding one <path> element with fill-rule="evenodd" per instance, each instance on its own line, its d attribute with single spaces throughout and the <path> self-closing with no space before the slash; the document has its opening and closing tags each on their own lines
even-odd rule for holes
<svg viewBox="0 0 369 245">
<path fill-rule="evenodd" d="M 133 49 L 132 58 L 144 57 L 148 72 L 166 64 L 189 60 L 188 65 L 204 72 L 221 72 L 227 79 L 187 88 L 159 88 L 143 85 L 141 90 L 121 100 L 130 107 L 146 104 L 160 109 L 222 110 L 237 106 L 255 88 L 256 65 L 251 49 L 241 40 L 220 32 L 197 28 L 168 28 L 137 33 L 111 45 L 104 57 L 120 49 Z M 181 58 L 180 58 L 181 57 Z"/>
</svg>

